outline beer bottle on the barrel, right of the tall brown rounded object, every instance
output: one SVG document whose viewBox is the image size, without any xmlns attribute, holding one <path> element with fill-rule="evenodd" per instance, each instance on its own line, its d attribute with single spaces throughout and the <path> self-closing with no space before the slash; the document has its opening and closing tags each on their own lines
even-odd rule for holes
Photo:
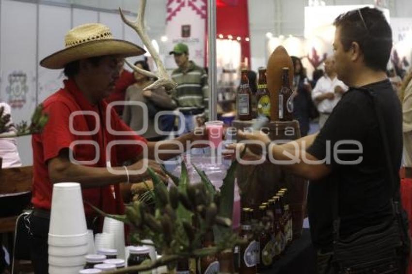
<svg viewBox="0 0 412 274">
<path fill-rule="evenodd" d="M 279 91 L 279 120 L 293 120 L 293 97 L 292 89 L 289 84 L 289 68 L 285 67 L 282 71 L 282 87 Z"/>
</svg>

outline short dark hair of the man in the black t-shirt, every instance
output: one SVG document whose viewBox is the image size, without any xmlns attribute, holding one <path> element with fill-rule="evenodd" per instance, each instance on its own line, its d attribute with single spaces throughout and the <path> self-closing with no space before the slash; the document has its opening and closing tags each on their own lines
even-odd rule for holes
<svg viewBox="0 0 412 274">
<path fill-rule="evenodd" d="M 348 51 L 352 42 L 359 44 L 366 66 L 386 71 L 392 49 L 392 30 L 383 13 L 364 7 L 339 15 L 333 25 L 340 27 L 340 42 Z"/>
</svg>

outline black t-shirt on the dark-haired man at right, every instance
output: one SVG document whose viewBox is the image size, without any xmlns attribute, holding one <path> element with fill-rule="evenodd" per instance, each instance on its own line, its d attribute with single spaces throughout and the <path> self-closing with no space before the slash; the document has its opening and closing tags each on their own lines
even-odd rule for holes
<svg viewBox="0 0 412 274">
<path fill-rule="evenodd" d="M 389 143 L 392 171 L 398 182 L 402 155 L 400 102 L 389 80 L 369 84 L 362 89 L 369 89 L 377 94 L 380 105 L 378 109 L 382 112 Z M 331 155 L 331 161 L 327 164 L 332 172 L 309 185 L 309 222 L 312 241 L 317 248 L 330 248 L 332 244 L 335 183 L 339 183 L 338 212 L 342 238 L 393 216 L 389 202 L 392 194 L 385 152 L 373 104 L 372 98 L 363 90 L 350 88 L 307 150 L 317 159 L 325 159 L 328 153 Z M 338 157 L 334 157 L 334 147 L 343 140 L 359 143 L 341 144 L 338 146 L 339 150 L 357 150 L 360 144 L 363 153 L 338 153 Z M 359 160 L 360 156 L 363 157 L 362 161 L 355 165 L 340 162 Z"/>
</svg>

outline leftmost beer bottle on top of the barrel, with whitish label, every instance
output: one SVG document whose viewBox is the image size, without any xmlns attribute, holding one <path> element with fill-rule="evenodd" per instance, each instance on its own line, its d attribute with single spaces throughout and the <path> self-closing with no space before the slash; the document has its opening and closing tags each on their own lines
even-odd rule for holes
<svg viewBox="0 0 412 274">
<path fill-rule="evenodd" d="M 252 120 L 252 91 L 249 87 L 247 69 L 242 69 L 237 101 L 238 119 L 241 121 Z"/>
</svg>

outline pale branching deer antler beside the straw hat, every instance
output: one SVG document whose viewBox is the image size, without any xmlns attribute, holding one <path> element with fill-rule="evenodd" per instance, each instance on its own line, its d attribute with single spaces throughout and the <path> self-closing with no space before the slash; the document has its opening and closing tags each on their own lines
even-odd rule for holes
<svg viewBox="0 0 412 274">
<path fill-rule="evenodd" d="M 120 15 L 122 16 L 123 22 L 133 30 L 137 32 L 137 34 L 142 39 L 144 46 L 146 46 L 149 53 L 152 55 L 156 66 L 158 67 L 158 74 L 154 74 L 143 69 L 140 69 L 136 66 L 131 65 L 129 62 L 126 61 L 127 65 L 129 65 L 134 71 L 141 73 L 145 76 L 149 77 L 157 77 L 158 80 L 151 84 L 150 86 L 146 87 L 144 90 L 154 90 L 159 87 L 164 87 L 166 90 L 174 89 L 177 84 L 172 80 L 172 78 L 167 74 L 166 69 L 163 66 L 162 61 L 158 55 L 158 52 L 153 47 L 152 43 L 150 42 L 149 35 L 144 28 L 144 11 L 146 8 L 146 0 L 140 0 L 140 9 L 137 14 L 137 20 L 132 22 L 128 20 L 125 15 L 123 14 L 122 8 L 119 8 Z"/>
</svg>

